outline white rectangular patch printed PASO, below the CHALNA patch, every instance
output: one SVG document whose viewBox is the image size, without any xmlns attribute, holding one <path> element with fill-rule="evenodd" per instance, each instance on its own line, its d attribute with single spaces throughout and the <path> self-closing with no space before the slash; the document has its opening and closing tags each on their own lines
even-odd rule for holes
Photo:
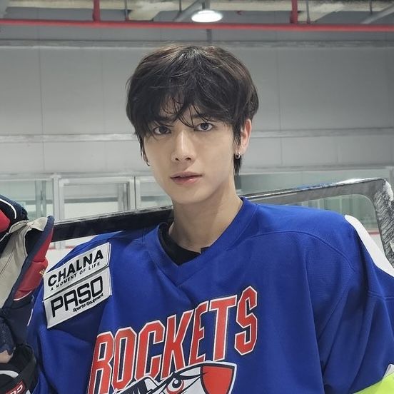
<svg viewBox="0 0 394 394">
<path fill-rule="evenodd" d="M 46 326 L 53 327 L 111 296 L 109 267 L 44 300 Z"/>
</svg>

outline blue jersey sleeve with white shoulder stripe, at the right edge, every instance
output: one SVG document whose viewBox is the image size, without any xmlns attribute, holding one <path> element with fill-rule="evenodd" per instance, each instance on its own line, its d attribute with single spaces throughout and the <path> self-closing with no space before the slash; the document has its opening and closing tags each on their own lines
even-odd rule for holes
<svg viewBox="0 0 394 394">
<path fill-rule="evenodd" d="M 336 253 L 350 269 L 317 332 L 327 394 L 365 390 L 394 364 L 394 268 L 360 222 L 345 218 Z"/>
</svg>

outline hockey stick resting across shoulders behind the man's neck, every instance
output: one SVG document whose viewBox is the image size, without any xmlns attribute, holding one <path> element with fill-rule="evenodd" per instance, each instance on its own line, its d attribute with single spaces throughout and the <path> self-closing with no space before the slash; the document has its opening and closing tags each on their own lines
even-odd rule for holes
<svg viewBox="0 0 394 394">
<path fill-rule="evenodd" d="M 390 184 L 382 178 L 360 179 L 338 183 L 322 183 L 313 186 L 288 188 L 244 195 L 256 203 L 291 204 L 320 198 L 358 194 L 372 201 L 375 208 L 383 249 L 390 263 L 394 264 L 391 241 L 394 238 L 393 193 Z M 138 230 L 156 226 L 171 215 L 171 206 L 109 213 L 106 215 L 58 221 L 52 241 L 94 236 L 111 231 Z"/>
</svg>

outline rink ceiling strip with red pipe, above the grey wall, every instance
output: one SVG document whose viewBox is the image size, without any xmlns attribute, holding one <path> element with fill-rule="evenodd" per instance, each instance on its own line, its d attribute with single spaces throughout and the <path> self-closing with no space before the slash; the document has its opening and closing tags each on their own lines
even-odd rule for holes
<svg viewBox="0 0 394 394">
<path fill-rule="evenodd" d="M 92 13 L 94 3 L 96 11 L 99 12 Z M 209 31 L 203 31 L 207 27 L 197 26 L 198 24 L 191 21 L 193 12 L 203 7 L 221 11 L 223 14 L 221 21 L 209 25 L 212 26 Z M 16 20 L 17 26 L 12 26 L 16 24 Z M 124 23 L 126 20 L 127 26 Z M 59 21 L 71 21 L 71 24 L 58 24 Z M 73 26 L 76 22 L 79 25 Z M 181 24 L 185 25 L 178 27 Z M 224 26 L 226 24 L 228 26 Z M 245 27 L 236 34 L 233 24 L 244 24 Z M 34 27 L 31 27 L 32 25 Z M 261 31 L 266 30 L 267 25 L 273 25 L 269 28 L 271 31 Z M 260 31 L 251 31 L 256 30 L 256 26 Z M 281 26 L 281 29 L 277 26 Z M 174 39 L 258 42 L 296 40 L 305 37 L 307 40 L 325 40 L 322 34 L 310 33 L 320 26 L 329 26 L 326 31 L 337 31 L 340 26 L 350 28 L 346 30 L 346 36 L 340 36 L 340 39 L 393 41 L 394 1 L 0 0 L 0 44 L 3 45 L 4 42 L 16 42 L 18 39 L 24 43 L 33 39 L 41 43 L 45 40 L 119 43 Z M 333 30 L 330 30 L 331 26 L 335 26 Z M 354 30 L 355 26 L 358 30 Z M 125 27 L 131 29 L 124 29 Z M 370 33 L 376 33 L 376 29 L 380 27 L 383 27 L 379 30 L 380 35 L 377 33 L 373 36 Z M 174 29 L 178 30 L 171 33 Z M 219 33 L 218 30 L 221 29 L 222 32 Z M 286 29 L 291 30 L 290 35 L 273 36 L 273 31 Z M 366 36 L 360 33 L 360 29 L 367 31 Z M 94 30 L 95 33 L 87 32 L 89 30 Z M 129 31 L 128 34 L 124 33 L 125 30 Z M 201 35 L 201 31 L 204 36 Z M 299 31 L 307 33 L 299 34 Z M 355 31 L 358 31 L 358 35 L 353 34 Z M 335 34 L 328 35 L 332 37 Z"/>
</svg>

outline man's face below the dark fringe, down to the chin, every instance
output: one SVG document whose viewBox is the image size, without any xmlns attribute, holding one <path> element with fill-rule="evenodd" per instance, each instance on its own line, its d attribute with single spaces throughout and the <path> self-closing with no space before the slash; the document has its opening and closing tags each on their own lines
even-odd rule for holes
<svg viewBox="0 0 394 394">
<path fill-rule="evenodd" d="M 180 120 L 151 126 L 144 140 L 153 176 L 174 203 L 199 203 L 233 188 L 233 131 L 221 121 L 195 112 Z"/>
</svg>

